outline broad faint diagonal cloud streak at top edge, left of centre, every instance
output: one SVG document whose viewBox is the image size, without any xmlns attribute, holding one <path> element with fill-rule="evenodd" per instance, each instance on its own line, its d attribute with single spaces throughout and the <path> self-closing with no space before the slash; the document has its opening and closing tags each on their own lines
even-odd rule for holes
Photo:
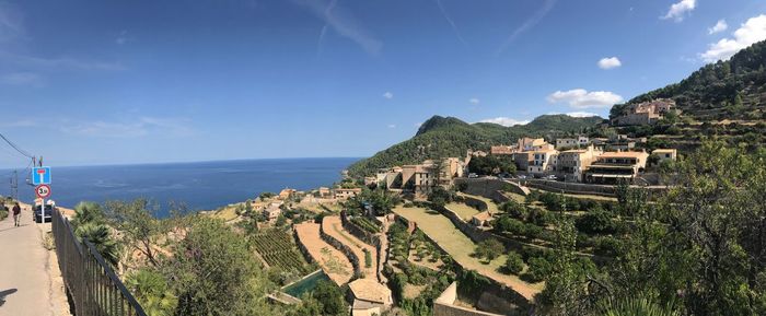
<svg viewBox="0 0 766 316">
<path fill-rule="evenodd" d="M 353 40 L 370 55 L 378 55 L 383 48 L 383 43 L 370 34 L 357 21 L 350 12 L 337 7 L 338 1 L 325 0 L 293 0 L 303 8 L 309 9 L 316 17 L 325 22 L 340 36 Z M 321 34 L 321 38 L 324 35 Z"/>
</svg>

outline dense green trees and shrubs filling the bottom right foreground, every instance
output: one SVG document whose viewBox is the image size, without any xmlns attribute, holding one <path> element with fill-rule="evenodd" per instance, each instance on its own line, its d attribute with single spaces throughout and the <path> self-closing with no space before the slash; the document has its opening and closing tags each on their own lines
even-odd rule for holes
<svg viewBox="0 0 766 316">
<path fill-rule="evenodd" d="M 562 219 L 541 312 L 624 315 L 634 306 L 662 315 L 766 315 L 764 162 L 766 150 L 705 142 L 674 166 L 678 186 L 657 203 L 627 188 L 618 209 L 631 216 L 631 231 L 600 270 L 578 267 L 576 224 Z"/>
</svg>

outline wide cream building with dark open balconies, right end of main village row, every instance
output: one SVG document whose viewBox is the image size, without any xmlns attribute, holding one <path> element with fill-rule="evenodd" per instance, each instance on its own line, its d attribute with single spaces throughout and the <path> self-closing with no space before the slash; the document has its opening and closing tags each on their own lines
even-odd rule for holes
<svg viewBox="0 0 766 316">
<path fill-rule="evenodd" d="M 647 152 L 605 152 L 591 164 L 585 182 L 617 184 L 620 179 L 632 182 L 647 167 Z"/>
</svg>

